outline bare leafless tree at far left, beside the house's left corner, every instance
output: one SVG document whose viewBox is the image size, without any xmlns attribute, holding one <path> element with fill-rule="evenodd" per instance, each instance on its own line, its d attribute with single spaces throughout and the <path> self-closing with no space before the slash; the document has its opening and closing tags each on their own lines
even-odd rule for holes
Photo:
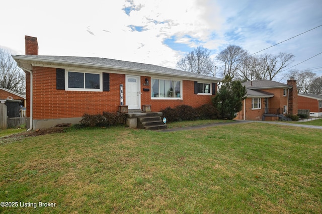
<svg viewBox="0 0 322 214">
<path fill-rule="evenodd" d="M 0 87 L 17 93 L 25 91 L 25 73 L 8 51 L 0 49 Z"/>
</svg>

